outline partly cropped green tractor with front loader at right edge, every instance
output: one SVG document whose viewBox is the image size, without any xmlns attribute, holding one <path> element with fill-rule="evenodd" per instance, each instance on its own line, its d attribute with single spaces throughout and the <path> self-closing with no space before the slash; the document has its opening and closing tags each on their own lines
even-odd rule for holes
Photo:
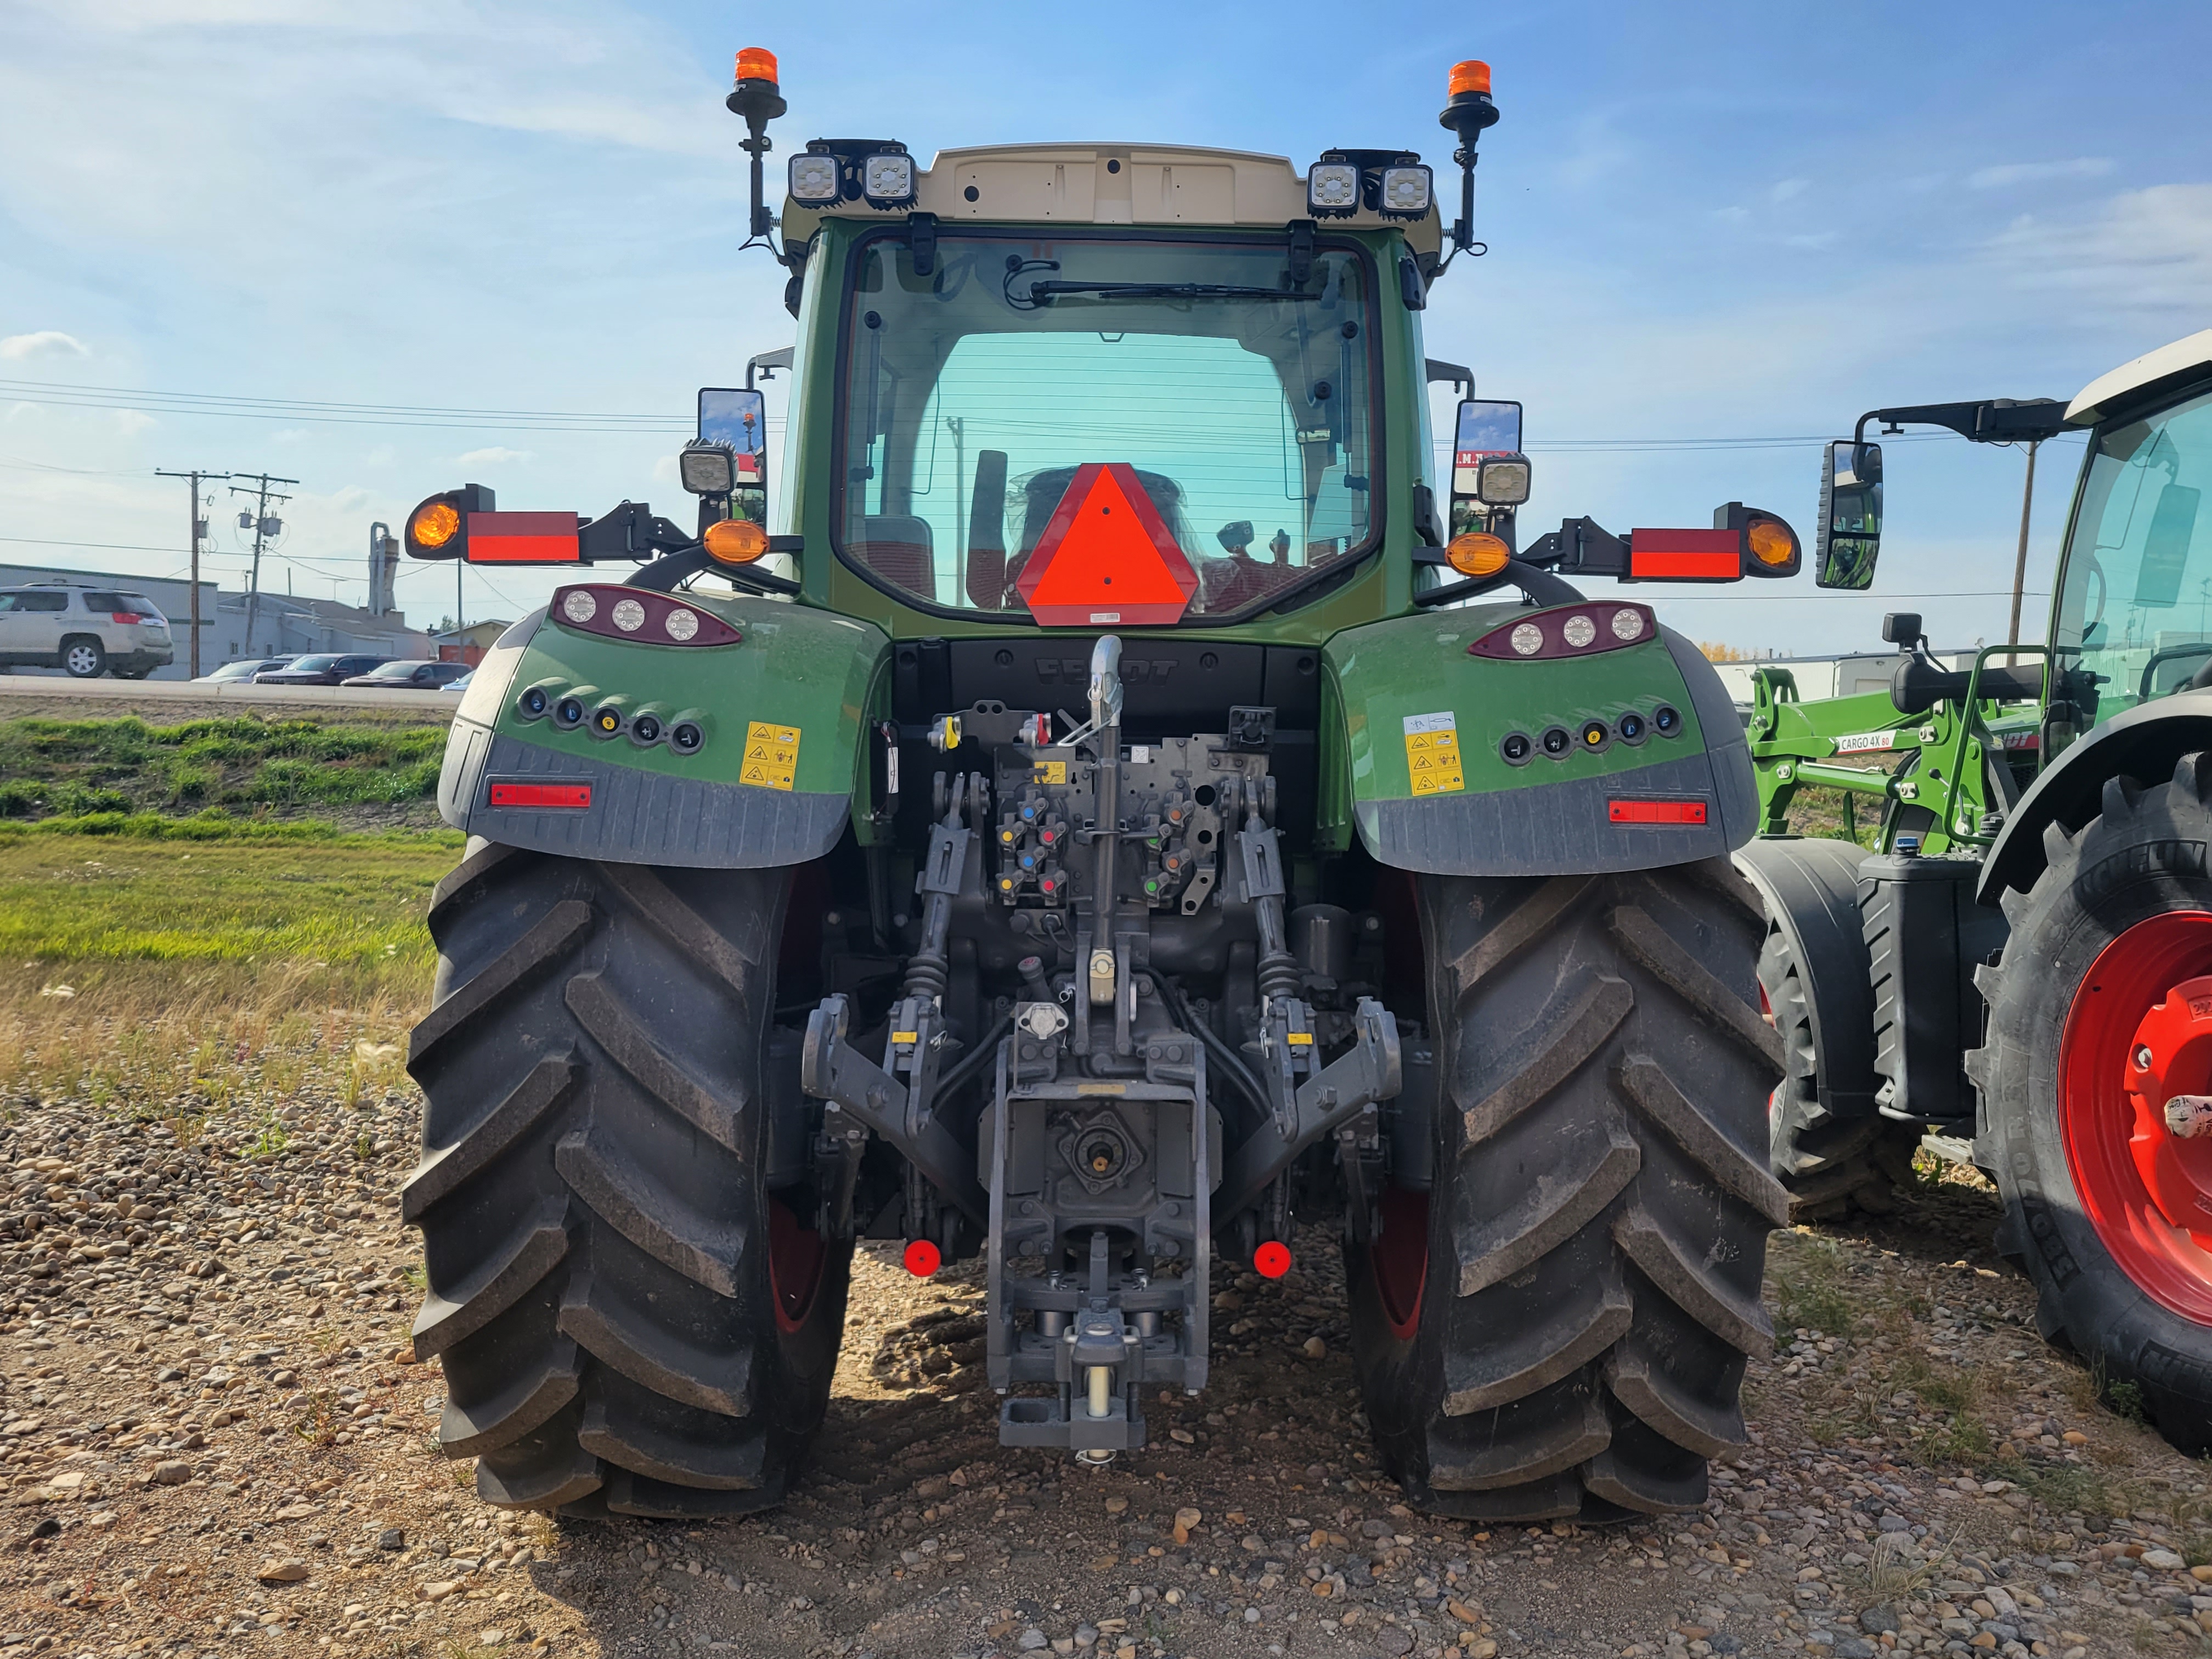
<svg viewBox="0 0 2212 1659">
<path fill-rule="evenodd" d="M 1893 615 L 1887 695 L 1750 717 L 1765 834 L 1761 993 L 1787 1075 L 1770 1106 L 1798 1210 L 1887 1208 L 1922 1135 L 2004 1199 L 2000 1248 L 2044 1336 L 2212 1444 L 2212 330 L 2062 407 L 1863 416 L 1829 447 L 1823 586 L 1871 582 L 1871 420 L 1982 442 L 2086 431 L 2044 644 L 1947 668 Z M 2004 661 L 1997 661 L 2004 659 Z M 2026 659 L 2026 661 L 2020 661 Z M 1836 757 L 1902 752 L 1889 770 Z M 1781 834 L 1798 787 L 1880 799 L 1878 845 Z"/>
</svg>

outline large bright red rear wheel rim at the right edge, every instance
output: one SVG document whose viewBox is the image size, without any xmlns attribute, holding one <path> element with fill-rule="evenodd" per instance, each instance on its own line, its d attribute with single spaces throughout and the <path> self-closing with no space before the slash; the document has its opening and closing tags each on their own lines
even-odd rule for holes
<svg viewBox="0 0 2212 1659">
<path fill-rule="evenodd" d="M 2059 1037 L 2059 1135 L 2097 1239 L 2137 1287 L 2212 1325 L 2212 1135 L 2168 1126 L 2212 1097 L 2212 914 L 2170 911 L 2104 947 Z M 2185 1102 L 2174 1108 L 2190 1117 Z"/>
</svg>

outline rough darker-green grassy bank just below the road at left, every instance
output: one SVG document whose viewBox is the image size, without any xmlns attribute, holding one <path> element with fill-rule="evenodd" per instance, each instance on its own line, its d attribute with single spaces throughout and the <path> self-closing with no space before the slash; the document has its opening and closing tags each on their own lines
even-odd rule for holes
<svg viewBox="0 0 2212 1659">
<path fill-rule="evenodd" d="M 445 730 L 259 714 L 11 719 L 0 721 L 0 818 L 427 803 Z"/>
</svg>

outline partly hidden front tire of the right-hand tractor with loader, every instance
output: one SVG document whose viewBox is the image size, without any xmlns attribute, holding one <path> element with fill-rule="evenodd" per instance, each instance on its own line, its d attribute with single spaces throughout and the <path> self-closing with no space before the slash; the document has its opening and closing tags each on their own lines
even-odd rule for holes
<svg viewBox="0 0 2212 1659">
<path fill-rule="evenodd" d="M 1767 1164 L 1790 1192 L 1792 1221 L 1843 1221 L 1854 1210 L 1889 1214 L 1913 1179 L 1920 1135 L 1907 1124 L 1838 1117 L 1820 1104 L 1805 969 L 1778 922 L 1759 951 L 1759 995 L 1783 1040 L 1783 1079 L 1767 1097 Z"/>
</svg>

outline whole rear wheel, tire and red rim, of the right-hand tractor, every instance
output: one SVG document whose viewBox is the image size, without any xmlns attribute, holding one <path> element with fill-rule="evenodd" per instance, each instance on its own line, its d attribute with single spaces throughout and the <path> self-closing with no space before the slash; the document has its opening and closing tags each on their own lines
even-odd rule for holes
<svg viewBox="0 0 2212 1659">
<path fill-rule="evenodd" d="M 2108 779 L 2079 836 L 2044 832 L 1966 1057 L 2037 1325 L 2190 1455 L 2212 1449 L 2212 1137 L 2190 1108 L 2212 1095 L 2208 796 L 2212 754 L 2190 754 L 2148 790 Z"/>
</svg>

